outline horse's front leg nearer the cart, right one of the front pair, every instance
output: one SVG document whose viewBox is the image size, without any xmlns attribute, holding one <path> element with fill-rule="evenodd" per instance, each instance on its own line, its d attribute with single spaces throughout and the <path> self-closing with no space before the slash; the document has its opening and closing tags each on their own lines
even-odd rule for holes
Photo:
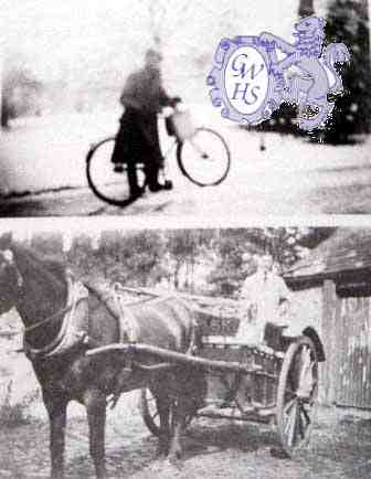
<svg viewBox="0 0 371 479">
<path fill-rule="evenodd" d="M 89 426 L 89 451 L 97 479 L 106 478 L 105 426 L 106 396 L 100 391 L 88 391 L 84 395 Z"/>
</svg>

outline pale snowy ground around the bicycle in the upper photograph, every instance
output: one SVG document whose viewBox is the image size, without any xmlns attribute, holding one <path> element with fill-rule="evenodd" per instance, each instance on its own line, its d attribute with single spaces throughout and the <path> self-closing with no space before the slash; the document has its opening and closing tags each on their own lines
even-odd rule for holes
<svg viewBox="0 0 371 479">
<path fill-rule="evenodd" d="M 371 212 L 371 141 L 357 146 L 312 145 L 303 139 L 247 132 L 223 120 L 211 106 L 191 106 L 198 124 L 227 140 L 232 169 L 216 188 L 200 189 L 170 160 L 174 190 L 145 195 L 119 210 L 95 199 L 86 185 L 85 155 L 92 142 L 117 129 L 119 109 L 89 115 L 42 117 L 1 137 L 0 190 L 32 193 L 60 187 L 76 191 L 3 201 L 1 215 L 92 214 L 305 214 Z M 161 125 L 162 149 L 169 138 Z M 227 201 L 225 201 L 227 199 Z"/>
</svg>

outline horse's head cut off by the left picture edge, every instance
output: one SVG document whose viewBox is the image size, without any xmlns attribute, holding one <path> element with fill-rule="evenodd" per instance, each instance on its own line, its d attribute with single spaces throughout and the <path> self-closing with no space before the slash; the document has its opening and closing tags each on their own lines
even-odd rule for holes
<svg viewBox="0 0 371 479">
<path fill-rule="evenodd" d="M 17 302 L 23 278 L 17 266 L 11 235 L 0 237 L 0 315 L 9 311 Z"/>
</svg>

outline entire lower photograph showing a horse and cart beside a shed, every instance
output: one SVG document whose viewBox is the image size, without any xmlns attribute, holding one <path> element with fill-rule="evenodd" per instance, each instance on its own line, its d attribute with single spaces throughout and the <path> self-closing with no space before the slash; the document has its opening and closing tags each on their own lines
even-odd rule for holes
<svg viewBox="0 0 371 479">
<path fill-rule="evenodd" d="M 57 224 L 0 231 L 0 478 L 371 477 L 371 228 Z"/>
</svg>

